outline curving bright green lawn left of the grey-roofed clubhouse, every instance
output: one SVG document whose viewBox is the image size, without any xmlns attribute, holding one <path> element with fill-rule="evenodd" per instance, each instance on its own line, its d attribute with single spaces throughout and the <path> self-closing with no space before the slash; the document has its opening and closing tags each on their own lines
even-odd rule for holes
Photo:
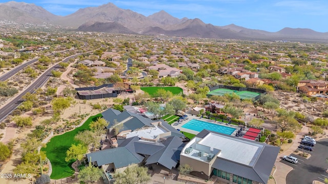
<svg viewBox="0 0 328 184">
<path fill-rule="evenodd" d="M 42 151 L 46 151 L 46 155 L 51 162 L 51 179 L 65 178 L 74 174 L 74 170 L 71 167 L 72 163 L 65 162 L 66 151 L 72 144 L 77 144 L 74 140 L 74 136 L 79 131 L 89 130 L 89 124 L 92 121 L 96 121 L 98 117 L 101 117 L 101 113 L 90 117 L 82 126 L 75 128 L 72 131 L 52 137 L 50 142 L 47 143 L 47 147 L 42 148 Z"/>
</svg>

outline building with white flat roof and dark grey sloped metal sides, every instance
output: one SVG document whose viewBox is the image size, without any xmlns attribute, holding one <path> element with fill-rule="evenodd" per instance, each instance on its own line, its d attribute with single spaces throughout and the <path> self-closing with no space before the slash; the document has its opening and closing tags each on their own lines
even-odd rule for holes
<svg viewBox="0 0 328 184">
<path fill-rule="evenodd" d="M 199 132 L 180 153 L 180 165 L 209 180 L 224 183 L 268 183 L 280 148 L 210 130 Z"/>
</svg>

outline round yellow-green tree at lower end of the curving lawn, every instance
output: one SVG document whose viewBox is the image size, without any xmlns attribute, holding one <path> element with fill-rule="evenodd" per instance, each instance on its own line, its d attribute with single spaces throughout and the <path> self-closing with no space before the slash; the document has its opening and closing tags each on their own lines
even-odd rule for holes
<svg viewBox="0 0 328 184">
<path fill-rule="evenodd" d="M 85 167 L 77 175 L 77 178 L 83 182 L 91 182 L 99 180 L 103 175 L 103 171 L 97 167 Z"/>
</svg>

